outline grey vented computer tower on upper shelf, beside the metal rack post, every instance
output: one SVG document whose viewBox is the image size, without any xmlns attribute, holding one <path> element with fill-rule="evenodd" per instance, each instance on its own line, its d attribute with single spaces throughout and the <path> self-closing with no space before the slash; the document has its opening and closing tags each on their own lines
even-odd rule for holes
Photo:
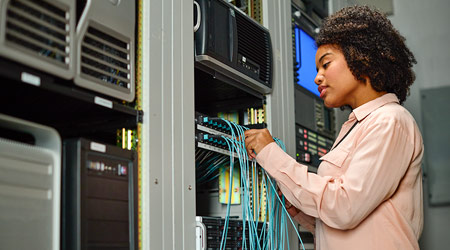
<svg viewBox="0 0 450 250">
<path fill-rule="evenodd" d="M 135 1 L 77 1 L 74 82 L 128 102 L 135 97 Z"/>
</svg>

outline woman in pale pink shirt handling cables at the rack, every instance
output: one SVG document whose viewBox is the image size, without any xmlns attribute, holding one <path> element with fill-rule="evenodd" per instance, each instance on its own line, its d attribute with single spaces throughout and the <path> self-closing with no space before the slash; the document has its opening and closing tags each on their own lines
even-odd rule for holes
<svg viewBox="0 0 450 250">
<path fill-rule="evenodd" d="M 400 105 L 416 63 L 404 40 L 368 7 L 342 9 L 323 23 L 315 82 L 327 107 L 352 113 L 317 174 L 283 152 L 267 129 L 245 132 L 248 154 L 276 179 L 317 249 L 419 249 L 423 143 Z"/>
</svg>

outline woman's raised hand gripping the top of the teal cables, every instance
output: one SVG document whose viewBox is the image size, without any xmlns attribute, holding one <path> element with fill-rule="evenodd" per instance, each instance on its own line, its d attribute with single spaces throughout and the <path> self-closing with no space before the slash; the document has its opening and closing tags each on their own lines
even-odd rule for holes
<svg viewBox="0 0 450 250">
<path fill-rule="evenodd" d="M 250 159 L 256 157 L 267 144 L 273 142 L 272 135 L 267 128 L 264 129 L 250 129 L 244 132 L 245 134 L 245 148 Z"/>
</svg>

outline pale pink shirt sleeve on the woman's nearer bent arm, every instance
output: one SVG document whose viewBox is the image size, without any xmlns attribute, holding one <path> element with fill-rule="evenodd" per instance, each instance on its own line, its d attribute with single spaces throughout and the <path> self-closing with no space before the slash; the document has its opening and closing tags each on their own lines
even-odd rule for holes
<svg viewBox="0 0 450 250">
<path fill-rule="evenodd" d="M 256 159 L 294 206 L 330 227 L 345 230 L 356 227 L 395 192 L 413 151 L 407 133 L 388 120 L 365 128 L 347 171 L 340 176 L 309 173 L 307 166 L 275 143 L 263 148 Z"/>
</svg>

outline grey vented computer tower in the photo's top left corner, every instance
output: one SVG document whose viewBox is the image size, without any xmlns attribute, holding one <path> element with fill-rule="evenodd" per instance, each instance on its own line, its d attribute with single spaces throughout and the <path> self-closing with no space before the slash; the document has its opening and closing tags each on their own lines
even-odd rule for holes
<svg viewBox="0 0 450 250">
<path fill-rule="evenodd" d="M 74 0 L 0 0 L 0 56 L 72 79 L 75 21 Z"/>
</svg>

